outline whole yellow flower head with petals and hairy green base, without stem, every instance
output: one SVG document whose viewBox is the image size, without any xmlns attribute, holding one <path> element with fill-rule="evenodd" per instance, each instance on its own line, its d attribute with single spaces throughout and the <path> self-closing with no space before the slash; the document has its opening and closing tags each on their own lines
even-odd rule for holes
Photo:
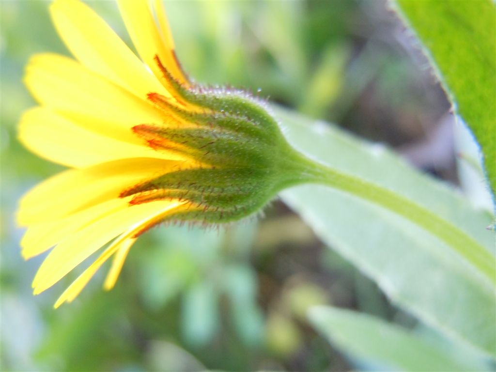
<svg viewBox="0 0 496 372">
<path fill-rule="evenodd" d="M 23 115 L 19 139 L 71 168 L 20 202 L 24 258 L 52 248 L 34 293 L 103 249 L 56 307 L 111 257 L 104 287 L 112 288 L 129 248 L 149 228 L 239 220 L 305 172 L 263 105 L 187 79 L 161 1 L 118 3 L 139 57 L 90 7 L 57 0 L 52 19 L 74 59 L 42 54 L 26 68 L 40 106 Z"/>
</svg>

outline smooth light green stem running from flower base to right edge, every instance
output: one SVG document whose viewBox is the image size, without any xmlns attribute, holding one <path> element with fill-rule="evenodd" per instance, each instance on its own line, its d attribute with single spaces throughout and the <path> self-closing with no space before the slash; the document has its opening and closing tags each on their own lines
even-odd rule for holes
<svg viewBox="0 0 496 372">
<path fill-rule="evenodd" d="M 295 151 L 292 151 L 290 158 L 293 169 L 299 170 L 299 177 L 289 181 L 286 186 L 309 182 L 323 184 L 388 209 L 449 245 L 480 273 L 487 276 L 493 286 L 496 286 L 495 256 L 450 222 L 417 204 L 414 200 L 372 182 L 316 163 Z"/>
</svg>

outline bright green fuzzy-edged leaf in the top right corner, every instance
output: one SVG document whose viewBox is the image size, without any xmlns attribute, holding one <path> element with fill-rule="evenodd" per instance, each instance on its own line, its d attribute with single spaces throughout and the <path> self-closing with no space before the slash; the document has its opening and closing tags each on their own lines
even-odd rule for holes
<svg viewBox="0 0 496 372">
<path fill-rule="evenodd" d="M 491 0 L 396 0 L 457 113 L 481 146 L 496 192 L 496 6 Z"/>
</svg>

